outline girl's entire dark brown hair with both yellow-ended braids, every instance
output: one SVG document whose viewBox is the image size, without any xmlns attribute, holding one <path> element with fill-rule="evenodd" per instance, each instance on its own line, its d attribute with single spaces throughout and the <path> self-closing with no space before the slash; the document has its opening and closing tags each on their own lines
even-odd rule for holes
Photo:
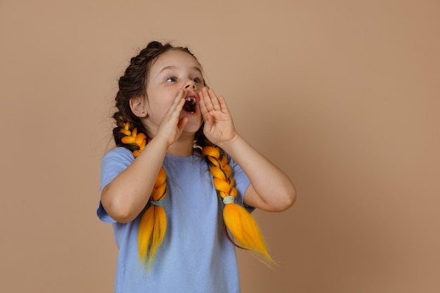
<svg viewBox="0 0 440 293">
<path fill-rule="evenodd" d="M 148 71 L 155 60 L 162 54 L 171 50 L 179 50 L 195 56 L 186 47 L 176 47 L 171 44 L 161 44 L 152 41 L 146 48 L 143 48 L 138 56 L 131 58 L 130 65 L 119 78 L 119 91 L 115 97 L 117 112 L 113 115 L 116 127 L 113 129 L 115 144 L 131 150 L 134 157 L 142 152 L 145 145 L 150 141 L 147 129 L 141 119 L 131 112 L 129 100 L 136 96 L 146 95 L 146 84 L 148 84 Z M 196 59 L 196 58 L 195 58 Z M 197 59 L 196 59 L 197 60 Z M 206 84 L 204 84 L 206 86 Z M 228 158 L 221 148 L 213 145 L 203 134 L 203 125 L 195 134 L 195 145 L 202 148 L 209 170 L 213 176 L 214 188 L 224 202 L 223 209 L 224 223 L 231 233 L 233 239 L 227 237 L 235 246 L 249 249 L 257 253 L 257 257 L 270 265 L 273 263 L 268 254 L 263 237 L 257 223 L 245 208 L 234 203 L 237 195 L 232 170 L 228 164 Z M 138 254 L 139 261 L 148 263 L 151 267 L 157 249 L 164 240 L 167 230 L 167 216 L 162 207 L 162 200 L 167 195 L 167 174 L 163 168 L 155 181 L 155 185 L 147 204 L 147 209 L 141 216 L 138 228 Z"/>
</svg>

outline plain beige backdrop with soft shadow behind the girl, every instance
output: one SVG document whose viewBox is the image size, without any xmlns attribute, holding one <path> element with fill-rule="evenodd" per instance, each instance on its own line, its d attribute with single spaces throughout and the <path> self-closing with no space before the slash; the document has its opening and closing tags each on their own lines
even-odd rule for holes
<svg viewBox="0 0 440 293">
<path fill-rule="evenodd" d="M 190 46 L 295 181 L 247 292 L 440 292 L 440 2 L 0 0 L 1 292 L 112 292 L 95 216 L 117 79 Z"/>
</svg>

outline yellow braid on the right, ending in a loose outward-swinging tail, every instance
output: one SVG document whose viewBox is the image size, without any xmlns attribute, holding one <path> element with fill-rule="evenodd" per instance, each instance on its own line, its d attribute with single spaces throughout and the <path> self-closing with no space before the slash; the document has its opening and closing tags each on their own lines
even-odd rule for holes
<svg viewBox="0 0 440 293">
<path fill-rule="evenodd" d="M 231 177 L 232 170 L 228 164 L 228 159 L 221 154 L 219 148 L 212 146 L 205 146 L 202 153 L 212 163 L 210 171 L 214 177 L 214 188 L 225 204 L 223 219 L 226 227 L 240 247 L 257 252 L 259 259 L 270 266 L 274 261 L 267 252 L 266 244 L 257 223 L 244 207 L 234 203 L 237 190 Z"/>
</svg>

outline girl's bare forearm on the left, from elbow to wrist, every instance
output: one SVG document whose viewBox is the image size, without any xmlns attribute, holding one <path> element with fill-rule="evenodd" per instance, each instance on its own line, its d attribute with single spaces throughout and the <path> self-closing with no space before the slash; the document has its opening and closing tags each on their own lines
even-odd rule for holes
<svg viewBox="0 0 440 293">
<path fill-rule="evenodd" d="M 127 169 L 103 188 L 101 203 L 115 221 L 127 223 L 147 204 L 167 152 L 167 143 L 153 139 Z"/>
</svg>

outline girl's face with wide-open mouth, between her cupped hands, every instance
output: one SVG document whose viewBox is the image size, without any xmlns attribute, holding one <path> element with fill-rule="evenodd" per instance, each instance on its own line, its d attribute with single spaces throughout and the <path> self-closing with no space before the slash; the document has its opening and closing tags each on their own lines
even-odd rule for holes
<svg viewBox="0 0 440 293">
<path fill-rule="evenodd" d="M 150 67 L 144 119 L 145 126 L 155 136 L 162 117 L 172 105 L 179 89 L 186 89 L 186 103 L 181 118 L 188 117 L 184 132 L 195 134 L 202 125 L 198 92 L 203 87 L 202 67 L 193 56 L 179 50 L 162 53 Z"/>
</svg>

